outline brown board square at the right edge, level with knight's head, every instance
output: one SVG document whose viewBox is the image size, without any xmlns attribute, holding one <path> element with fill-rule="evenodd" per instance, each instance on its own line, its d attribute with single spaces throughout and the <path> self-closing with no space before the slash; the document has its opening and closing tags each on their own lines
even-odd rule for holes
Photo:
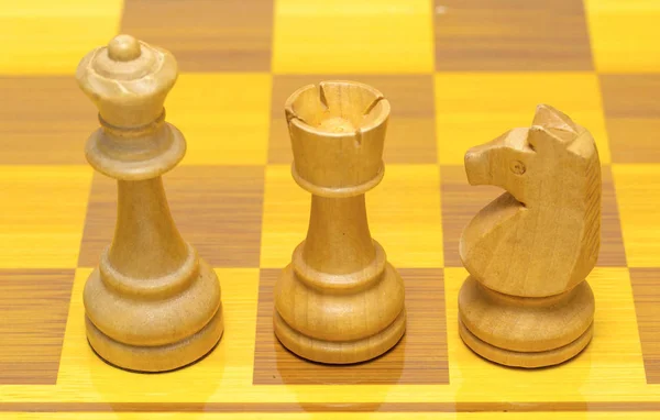
<svg viewBox="0 0 660 420">
<path fill-rule="evenodd" d="M 660 76 L 601 75 L 615 163 L 660 163 Z"/>
</svg>

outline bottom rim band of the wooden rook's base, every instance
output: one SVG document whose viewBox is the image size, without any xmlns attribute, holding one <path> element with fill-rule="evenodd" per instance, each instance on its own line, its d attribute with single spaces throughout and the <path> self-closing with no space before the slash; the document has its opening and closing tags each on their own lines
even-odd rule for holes
<svg viewBox="0 0 660 420">
<path fill-rule="evenodd" d="M 302 358 L 328 364 L 351 364 L 377 357 L 394 347 L 406 331 L 406 310 L 385 330 L 355 341 L 324 341 L 304 335 L 292 329 L 277 311 L 273 314 L 273 325 L 279 342 Z"/>
</svg>

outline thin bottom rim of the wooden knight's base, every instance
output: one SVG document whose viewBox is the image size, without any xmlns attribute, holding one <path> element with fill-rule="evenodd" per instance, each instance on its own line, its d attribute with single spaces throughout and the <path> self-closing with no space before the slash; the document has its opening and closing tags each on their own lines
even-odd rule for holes
<svg viewBox="0 0 660 420">
<path fill-rule="evenodd" d="M 491 362 L 505 366 L 535 368 L 558 365 L 580 354 L 593 336 L 593 325 L 590 325 L 575 341 L 543 352 L 515 352 L 496 347 L 474 335 L 461 321 L 459 321 L 459 332 L 463 342 L 473 352 Z"/>
</svg>

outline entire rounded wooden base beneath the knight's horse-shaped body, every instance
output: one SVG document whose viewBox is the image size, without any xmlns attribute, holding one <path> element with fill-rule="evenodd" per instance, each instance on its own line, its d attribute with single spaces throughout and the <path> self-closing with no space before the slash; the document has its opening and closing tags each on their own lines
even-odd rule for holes
<svg viewBox="0 0 660 420">
<path fill-rule="evenodd" d="M 459 292 L 461 338 L 507 366 L 542 367 L 580 353 L 593 335 L 594 294 L 586 281 L 560 295 L 503 295 L 470 276 Z"/>
</svg>

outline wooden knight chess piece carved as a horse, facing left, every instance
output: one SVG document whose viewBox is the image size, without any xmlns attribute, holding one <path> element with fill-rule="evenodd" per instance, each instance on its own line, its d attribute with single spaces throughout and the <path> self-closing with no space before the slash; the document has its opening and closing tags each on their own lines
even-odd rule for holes
<svg viewBox="0 0 660 420">
<path fill-rule="evenodd" d="M 463 341 L 509 366 L 575 356 L 593 335 L 594 295 L 585 277 L 601 243 L 601 163 L 592 135 L 539 106 L 529 129 L 468 151 L 465 170 L 471 185 L 507 192 L 461 237 L 470 273 L 459 295 Z"/>
</svg>

